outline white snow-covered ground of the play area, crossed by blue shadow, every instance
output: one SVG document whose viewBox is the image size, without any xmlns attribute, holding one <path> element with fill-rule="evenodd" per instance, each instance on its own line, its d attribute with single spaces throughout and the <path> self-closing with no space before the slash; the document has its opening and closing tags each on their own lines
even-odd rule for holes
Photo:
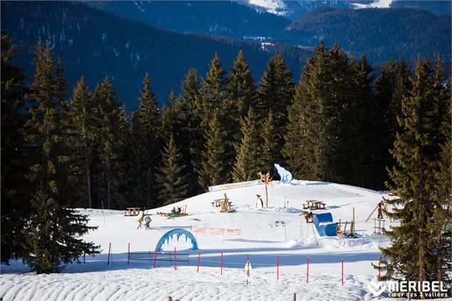
<svg viewBox="0 0 452 301">
<path fill-rule="evenodd" d="M 226 192 L 236 211 L 220 213 L 211 201 Z M 187 205 L 188 216 L 166 218 L 149 211 L 152 229 L 137 230 L 137 217 L 125 217 L 121 211 L 80 209 L 90 214 L 90 225 L 99 226 L 87 240 L 103 249 L 102 254 L 86 257 L 86 263 L 68 265 L 63 273 L 34 275 L 20 262 L 1 266 L 0 297 L 3 300 L 382 300 L 374 297 L 367 284 L 377 271 L 371 263 L 379 258 L 379 243 L 365 238 L 320 238 L 317 231 L 298 216 L 306 200 L 327 204 L 335 221 L 351 221 L 355 209 L 356 230 L 370 234 L 373 222 L 365 223 L 382 196 L 387 195 L 354 186 L 312 181 L 275 182 L 268 188 L 269 208 L 256 209 L 256 194 L 263 196 L 263 185 L 210 192 L 175 204 Z M 284 208 L 285 200 L 288 206 Z M 287 204 L 287 203 L 286 203 Z M 197 234 L 201 249 L 199 273 L 198 251 L 182 237 L 164 245 L 164 252 L 179 258 L 189 253 L 188 262 L 131 260 L 130 252 L 154 251 L 159 238 L 173 228 L 190 226 L 240 229 L 241 236 Z M 389 223 L 387 224 L 389 226 Z M 315 233 L 315 236 L 314 236 Z M 175 238 L 175 236 L 174 236 Z M 107 265 L 109 245 L 112 258 Z M 381 242 L 380 242 L 381 243 Z M 221 275 L 221 251 L 224 264 Z M 252 265 L 249 284 L 243 270 L 249 255 Z M 276 274 L 279 255 L 279 279 Z M 310 258 L 309 283 L 306 282 L 307 258 Z M 341 260 L 344 259 L 344 285 L 341 284 Z M 83 258 L 80 258 L 83 261 Z M 391 299 L 394 300 L 394 299 Z"/>
</svg>

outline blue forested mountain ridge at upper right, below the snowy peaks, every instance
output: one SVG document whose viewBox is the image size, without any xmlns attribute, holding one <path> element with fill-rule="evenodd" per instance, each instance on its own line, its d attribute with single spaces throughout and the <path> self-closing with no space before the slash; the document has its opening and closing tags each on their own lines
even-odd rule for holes
<svg viewBox="0 0 452 301">
<path fill-rule="evenodd" d="M 332 9 L 310 11 L 291 23 L 276 39 L 315 46 L 338 42 L 352 54 L 366 54 L 372 62 L 418 55 L 451 58 L 451 16 L 435 16 L 420 9 Z"/>
</svg>

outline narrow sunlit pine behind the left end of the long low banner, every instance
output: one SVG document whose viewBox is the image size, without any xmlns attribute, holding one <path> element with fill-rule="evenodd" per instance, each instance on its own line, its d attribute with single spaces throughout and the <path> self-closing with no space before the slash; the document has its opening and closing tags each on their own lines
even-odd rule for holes
<svg viewBox="0 0 452 301">
<path fill-rule="evenodd" d="M 204 132 L 204 150 L 201 152 L 201 170 L 199 172 L 199 185 L 208 191 L 209 185 L 226 183 L 224 158 L 224 134 L 221 132 L 219 118 L 214 113 L 209 122 L 209 128 Z"/>
</svg>

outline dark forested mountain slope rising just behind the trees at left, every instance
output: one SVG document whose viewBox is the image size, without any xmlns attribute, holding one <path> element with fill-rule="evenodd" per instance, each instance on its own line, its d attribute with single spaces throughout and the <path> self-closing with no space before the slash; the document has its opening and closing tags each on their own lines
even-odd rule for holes
<svg viewBox="0 0 452 301">
<path fill-rule="evenodd" d="M 219 36 L 174 33 L 66 1 L 2 1 L 1 26 L 21 53 L 15 64 L 24 66 L 28 75 L 33 75 L 36 41 L 48 39 L 63 60 L 71 86 L 83 75 L 93 89 L 108 75 L 129 111 L 137 107 L 146 72 L 162 105 L 172 88 L 179 92 L 189 68 L 197 68 L 204 76 L 215 52 L 224 67 L 230 68 L 242 49 L 256 81 L 274 53 L 283 53 L 297 75 L 310 56 L 310 51 L 278 43 L 263 46 Z"/>
</svg>

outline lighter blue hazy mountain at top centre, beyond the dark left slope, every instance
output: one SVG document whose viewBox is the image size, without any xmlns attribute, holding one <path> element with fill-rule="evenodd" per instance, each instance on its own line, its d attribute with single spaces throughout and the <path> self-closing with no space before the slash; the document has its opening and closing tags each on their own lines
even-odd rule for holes
<svg viewBox="0 0 452 301">
<path fill-rule="evenodd" d="M 273 36 L 289 19 L 231 1 L 83 1 L 116 16 L 180 33 Z"/>
</svg>

